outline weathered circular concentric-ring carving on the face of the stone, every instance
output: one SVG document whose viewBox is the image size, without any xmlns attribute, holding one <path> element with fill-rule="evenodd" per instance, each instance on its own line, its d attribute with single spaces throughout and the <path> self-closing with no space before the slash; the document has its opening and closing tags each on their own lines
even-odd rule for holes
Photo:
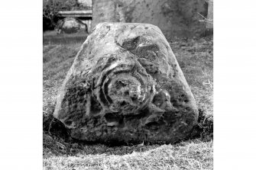
<svg viewBox="0 0 256 170">
<path fill-rule="evenodd" d="M 131 56 L 130 56 L 131 57 Z M 154 82 L 136 59 L 108 59 L 96 84 L 99 103 L 109 112 L 139 114 L 152 101 Z"/>
</svg>

